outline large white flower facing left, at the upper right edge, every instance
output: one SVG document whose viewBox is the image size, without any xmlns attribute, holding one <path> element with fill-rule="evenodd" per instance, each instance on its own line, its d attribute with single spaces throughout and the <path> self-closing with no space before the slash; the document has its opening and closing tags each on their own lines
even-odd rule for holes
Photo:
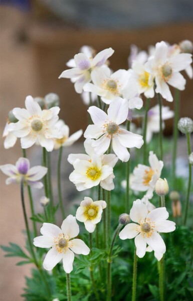
<svg viewBox="0 0 193 301">
<path fill-rule="evenodd" d="M 168 84 L 184 90 L 186 81 L 179 71 L 184 70 L 191 62 L 191 54 L 180 53 L 169 57 L 167 44 L 163 41 L 157 43 L 154 56 L 145 63 L 145 70 L 151 74 L 149 81 L 155 78 L 155 92 L 160 93 L 166 100 L 173 101 Z"/>
</svg>

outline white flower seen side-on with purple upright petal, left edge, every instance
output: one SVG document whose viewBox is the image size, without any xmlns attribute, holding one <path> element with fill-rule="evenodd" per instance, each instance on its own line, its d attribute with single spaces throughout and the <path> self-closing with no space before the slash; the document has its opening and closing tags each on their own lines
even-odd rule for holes
<svg viewBox="0 0 193 301">
<path fill-rule="evenodd" d="M 20 158 L 16 165 L 5 164 L 0 166 L 0 170 L 9 178 L 6 184 L 18 184 L 23 181 L 25 185 L 31 185 L 35 188 L 42 188 L 42 182 L 39 182 L 47 173 L 48 169 L 43 166 L 34 166 L 30 168 L 30 161 L 26 158 Z"/>
</svg>

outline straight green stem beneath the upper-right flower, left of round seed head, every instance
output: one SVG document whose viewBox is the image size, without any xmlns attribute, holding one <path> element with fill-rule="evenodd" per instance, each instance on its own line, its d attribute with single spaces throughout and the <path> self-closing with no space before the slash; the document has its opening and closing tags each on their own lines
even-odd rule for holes
<svg viewBox="0 0 193 301">
<path fill-rule="evenodd" d="M 175 89 L 175 114 L 173 119 L 173 157 L 172 157 L 172 181 L 173 181 L 173 189 L 175 185 L 175 161 L 176 161 L 176 151 L 177 151 L 177 137 L 178 137 L 178 129 L 177 122 L 179 119 L 179 90 Z"/>
</svg>

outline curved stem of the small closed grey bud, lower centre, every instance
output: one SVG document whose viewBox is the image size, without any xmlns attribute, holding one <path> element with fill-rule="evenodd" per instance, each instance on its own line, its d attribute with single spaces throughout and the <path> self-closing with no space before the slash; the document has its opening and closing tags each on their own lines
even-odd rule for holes
<svg viewBox="0 0 193 301">
<path fill-rule="evenodd" d="M 113 235 L 113 239 L 111 242 L 110 250 L 109 250 L 109 256 L 108 256 L 108 267 L 107 267 L 107 301 L 111 300 L 111 293 L 112 293 L 112 281 L 111 281 L 111 256 L 112 256 L 112 250 L 115 243 L 115 239 L 122 228 L 122 225 L 119 224 L 115 230 L 115 233 Z"/>
</svg>

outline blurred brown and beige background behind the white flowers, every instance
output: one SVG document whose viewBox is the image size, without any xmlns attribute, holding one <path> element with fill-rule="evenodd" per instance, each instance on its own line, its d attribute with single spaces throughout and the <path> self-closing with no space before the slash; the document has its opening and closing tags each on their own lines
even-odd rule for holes
<svg viewBox="0 0 193 301">
<path fill-rule="evenodd" d="M 87 107 L 70 80 L 58 79 L 67 69 L 66 62 L 83 45 L 92 46 L 97 52 L 112 47 L 115 53 L 110 58 L 110 67 L 117 70 L 128 68 L 131 44 L 147 50 L 149 45 L 161 40 L 170 44 L 193 40 L 192 0 L 1 0 L 0 3 L 1 133 L 8 112 L 14 107 L 24 107 L 27 95 L 45 96 L 49 92 L 60 96 L 60 117 L 70 126 L 70 133 L 86 128 Z M 180 93 L 180 116 L 193 118 L 192 82 L 184 76 L 187 83 Z M 163 104 L 171 108 L 173 105 L 165 101 Z M 168 134 L 172 131 L 172 120 L 167 131 Z M 77 152 L 82 144 L 75 147 L 68 153 Z M 178 149 L 178 155 L 183 150 L 183 147 Z M 32 149 L 28 150 L 33 165 L 37 165 L 35 159 L 41 155 L 39 152 L 36 147 L 33 154 Z M 19 143 L 5 150 L 2 140 L 1 164 L 15 164 L 21 156 Z M 69 165 L 67 169 L 68 178 Z M 0 176 L 1 243 L 13 241 L 23 246 L 19 187 L 5 186 L 5 176 Z M 4 258 L 1 251 L 1 300 L 22 300 L 24 275 L 30 275 L 31 267 L 16 267 L 17 261 Z"/>
</svg>

